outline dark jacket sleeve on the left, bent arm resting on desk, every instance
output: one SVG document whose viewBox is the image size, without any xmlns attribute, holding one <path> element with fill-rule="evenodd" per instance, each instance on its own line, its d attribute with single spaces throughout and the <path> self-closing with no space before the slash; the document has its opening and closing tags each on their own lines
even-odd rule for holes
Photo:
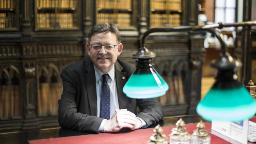
<svg viewBox="0 0 256 144">
<path fill-rule="evenodd" d="M 82 114 L 77 109 L 77 82 L 70 70 L 62 70 L 63 92 L 59 103 L 58 121 L 60 127 L 82 132 L 98 133 L 103 118 Z"/>
</svg>

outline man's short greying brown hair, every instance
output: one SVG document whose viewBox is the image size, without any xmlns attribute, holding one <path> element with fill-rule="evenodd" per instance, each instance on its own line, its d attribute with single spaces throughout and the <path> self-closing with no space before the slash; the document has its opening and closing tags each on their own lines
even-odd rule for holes
<svg viewBox="0 0 256 144">
<path fill-rule="evenodd" d="M 90 44 L 90 40 L 94 34 L 108 33 L 108 32 L 111 32 L 112 34 L 116 35 L 118 44 L 121 42 L 121 36 L 116 24 L 113 24 L 113 23 L 109 24 L 107 22 L 103 22 L 93 26 L 93 28 L 90 30 L 88 34 L 87 43 Z"/>
</svg>

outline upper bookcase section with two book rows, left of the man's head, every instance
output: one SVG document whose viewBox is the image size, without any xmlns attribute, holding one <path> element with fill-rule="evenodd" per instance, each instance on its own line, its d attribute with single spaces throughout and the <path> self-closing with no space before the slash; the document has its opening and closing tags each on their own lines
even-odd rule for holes
<svg viewBox="0 0 256 144">
<path fill-rule="evenodd" d="M 36 30 L 78 29 L 79 0 L 36 0 Z"/>
</svg>

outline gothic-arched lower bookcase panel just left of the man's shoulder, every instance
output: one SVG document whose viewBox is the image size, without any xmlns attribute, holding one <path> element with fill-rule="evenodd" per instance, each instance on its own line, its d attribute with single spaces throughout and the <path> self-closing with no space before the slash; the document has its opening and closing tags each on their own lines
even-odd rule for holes
<svg viewBox="0 0 256 144">
<path fill-rule="evenodd" d="M 62 94 L 61 70 L 70 62 L 38 63 L 38 116 L 57 116 L 58 100 Z"/>
</svg>

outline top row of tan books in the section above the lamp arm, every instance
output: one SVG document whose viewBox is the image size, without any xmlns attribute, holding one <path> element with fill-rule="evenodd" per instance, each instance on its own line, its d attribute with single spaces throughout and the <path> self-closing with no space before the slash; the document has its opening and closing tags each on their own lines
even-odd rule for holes
<svg viewBox="0 0 256 144">
<path fill-rule="evenodd" d="M 181 10 L 181 0 L 151 0 L 151 8 L 155 10 Z"/>
</svg>

